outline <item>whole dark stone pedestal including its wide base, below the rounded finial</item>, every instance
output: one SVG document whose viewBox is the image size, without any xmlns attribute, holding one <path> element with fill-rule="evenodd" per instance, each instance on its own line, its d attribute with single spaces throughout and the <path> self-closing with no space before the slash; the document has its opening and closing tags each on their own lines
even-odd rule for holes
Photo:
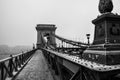
<svg viewBox="0 0 120 80">
<path fill-rule="evenodd" d="M 92 21 L 94 41 L 83 58 L 107 65 L 120 64 L 120 15 L 105 13 Z"/>
</svg>

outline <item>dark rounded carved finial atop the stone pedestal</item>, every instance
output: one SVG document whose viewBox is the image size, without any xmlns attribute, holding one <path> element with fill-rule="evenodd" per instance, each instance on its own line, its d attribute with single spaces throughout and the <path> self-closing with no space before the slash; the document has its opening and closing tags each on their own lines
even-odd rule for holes
<svg viewBox="0 0 120 80">
<path fill-rule="evenodd" d="M 99 1 L 99 12 L 101 14 L 111 12 L 113 10 L 112 0 L 100 0 Z"/>
</svg>

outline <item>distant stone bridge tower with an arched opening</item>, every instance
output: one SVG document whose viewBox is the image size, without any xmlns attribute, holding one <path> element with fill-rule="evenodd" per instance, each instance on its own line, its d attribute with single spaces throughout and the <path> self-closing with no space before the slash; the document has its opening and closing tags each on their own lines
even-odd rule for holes
<svg viewBox="0 0 120 80">
<path fill-rule="evenodd" d="M 56 46 L 55 30 L 56 27 L 53 24 L 38 24 L 36 27 L 37 30 L 37 48 L 45 47 L 45 45 Z M 47 42 L 44 37 L 47 38 Z M 47 43 L 47 44 L 46 44 Z"/>
</svg>

